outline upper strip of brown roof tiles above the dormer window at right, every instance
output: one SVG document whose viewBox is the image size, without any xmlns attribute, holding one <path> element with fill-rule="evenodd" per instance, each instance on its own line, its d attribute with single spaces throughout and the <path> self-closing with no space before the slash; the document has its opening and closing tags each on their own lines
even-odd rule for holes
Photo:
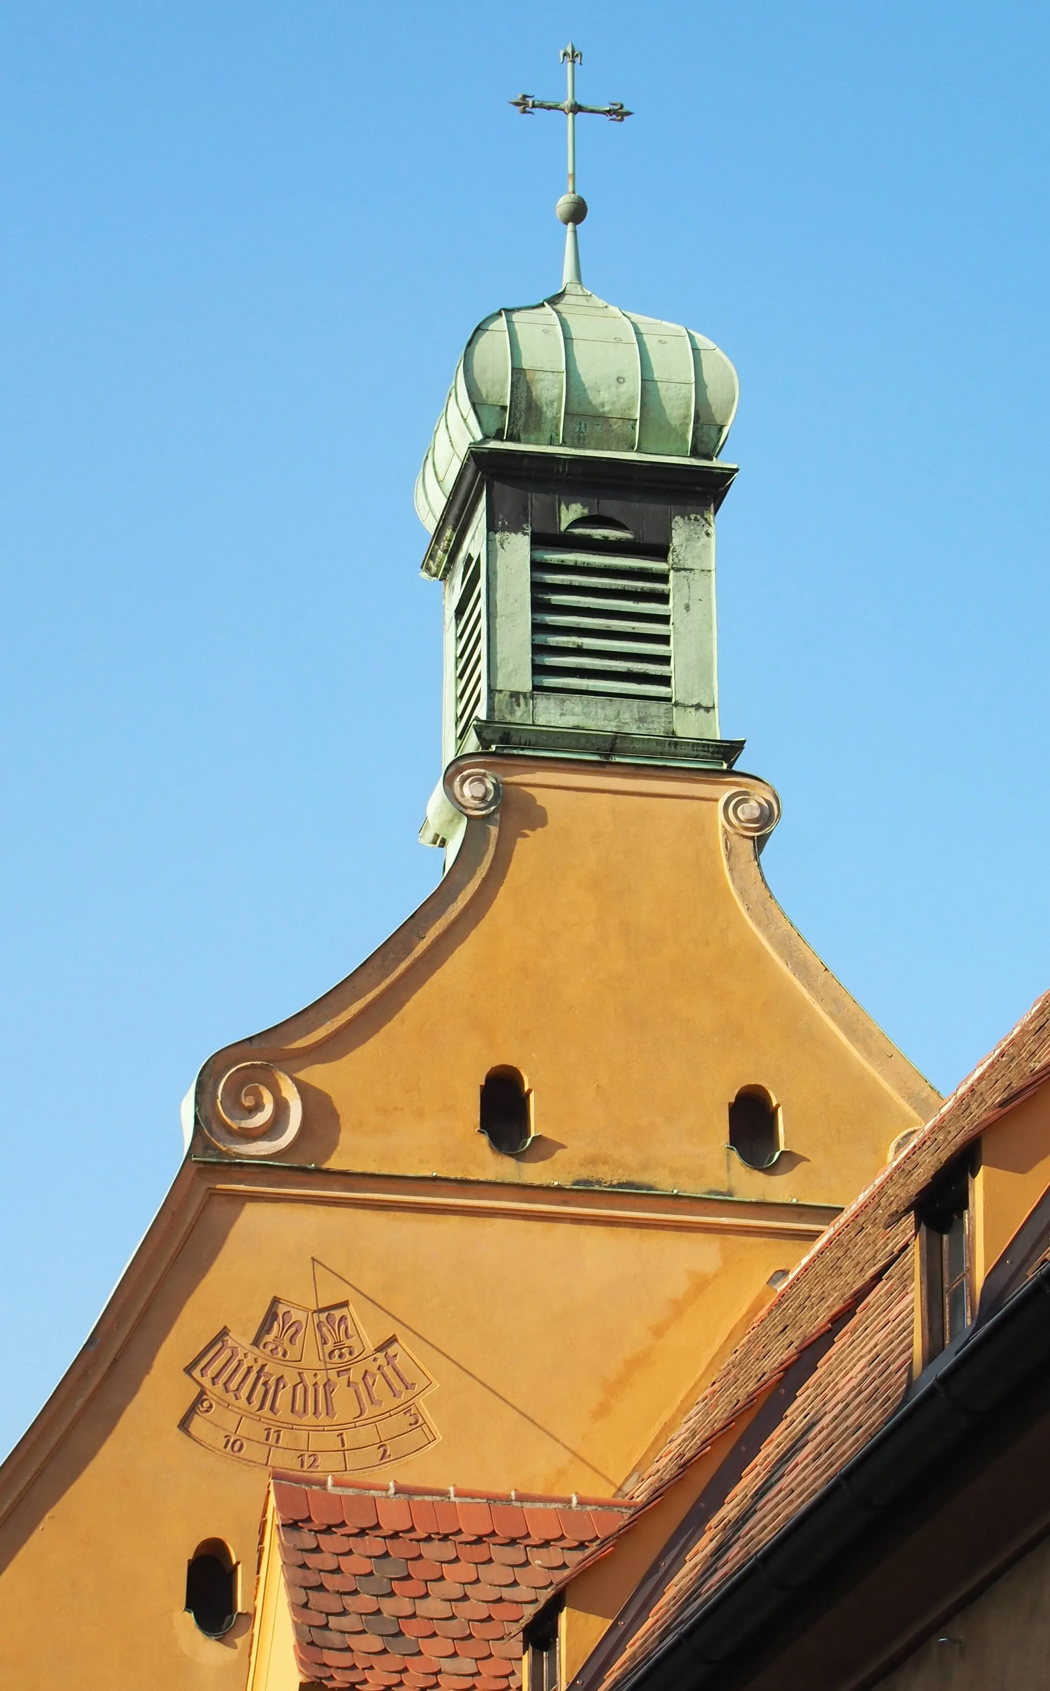
<svg viewBox="0 0 1050 1691">
<path fill-rule="evenodd" d="M 822 1233 L 627 1493 L 651 1503 L 869 1292 L 913 1236 L 911 1206 L 977 1133 L 1050 1075 L 1050 993 L 999 1040 L 937 1114 Z"/>
</svg>

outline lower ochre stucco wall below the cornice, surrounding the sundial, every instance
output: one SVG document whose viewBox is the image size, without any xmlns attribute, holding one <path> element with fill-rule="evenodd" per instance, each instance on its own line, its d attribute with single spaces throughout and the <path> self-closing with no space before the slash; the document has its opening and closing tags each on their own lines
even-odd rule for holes
<svg viewBox="0 0 1050 1691">
<path fill-rule="evenodd" d="M 636 1209 L 631 1223 L 604 1194 L 587 1216 L 575 1206 L 500 1214 L 484 1201 L 492 1189 L 465 1202 L 443 1182 L 413 1207 L 404 1189 L 375 1182 L 250 1170 L 242 1184 L 200 1165 L 188 1175 L 208 1192 L 181 1250 L 90 1393 L 74 1368 L 71 1420 L 0 1527 L 5 1683 L 64 1691 L 149 1671 L 172 1691 L 243 1684 L 267 1461 L 612 1495 L 695 1395 L 741 1300 L 791 1267 L 818 1228 L 790 1211 L 779 1229 L 751 1211 L 719 1228 L 688 1204 L 678 1216 Z M 186 1370 L 223 1331 L 252 1346 L 274 1297 L 304 1311 L 348 1304 L 369 1346 L 394 1336 L 402 1373 L 431 1382 L 414 1400 L 431 1442 L 401 1459 L 394 1439 L 391 1459 L 377 1447 L 340 1456 L 323 1412 L 304 1417 L 286 1392 L 279 1414 L 260 1417 L 242 1382 L 232 1410 L 230 1390 L 216 1390 L 215 1407 L 188 1422 L 200 1380 Z M 105 1317 L 98 1343 L 110 1343 Z M 299 1376 L 277 1368 L 289 1385 Z M 338 1422 L 338 1395 L 335 1405 Z M 399 1414 L 397 1402 L 384 1409 Z M 262 1449 L 254 1441 L 267 1427 L 281 1444 Z M 357 1424 L 350 1446 L 355 1436 Z M 7 1464 L 5 1498 L 30 1454 Z M 183 1613 L 186 1562 L 210 1537 L 240 1564 L 245 1620 L 221 1642 Z M 47 1639 L 42 1608 L 59 1620 Z M 90 1679 L 78 1677 L 85 1664 Z"/>
</svg>

